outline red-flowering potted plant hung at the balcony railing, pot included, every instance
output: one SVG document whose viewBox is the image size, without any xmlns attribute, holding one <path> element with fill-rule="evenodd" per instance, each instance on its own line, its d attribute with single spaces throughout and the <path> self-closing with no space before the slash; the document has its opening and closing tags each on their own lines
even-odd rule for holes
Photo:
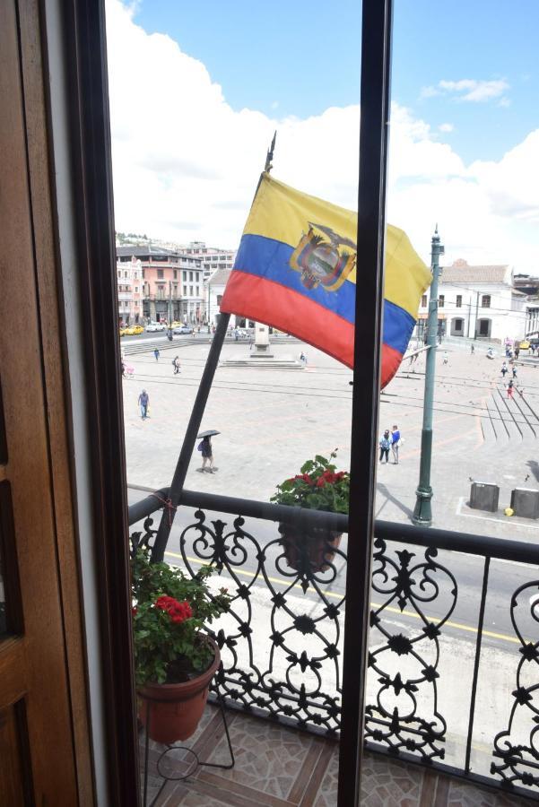
<svg viewBox="0 0 539 807">
<path fill-rule="evenodd" d="M 329 459 L 317 454 L 314 460 L 301 465 L 300 473 L 277 485 L 270 501 L 295 508 L 325 510 L 329 513 L 348 513 L 350 501 L 350 474 L 337 471 L 332 463 L 336 449 Z M 279 532 L 288 565 L 305 573 L 325 571 L 341 542 L 342 533 L 320 527 L 298 527 L 282 522 Z"/>
</svg>

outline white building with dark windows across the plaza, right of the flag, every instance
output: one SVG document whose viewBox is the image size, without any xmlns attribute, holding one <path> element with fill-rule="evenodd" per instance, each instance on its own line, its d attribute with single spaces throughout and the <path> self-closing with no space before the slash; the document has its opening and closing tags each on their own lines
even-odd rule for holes
<svg viewBox="0 0 539 807">
<path fill-rule="evenodd" d="M 428 294 L 419 309 L 419 331 L 428 316 Z M 509 265 L 470 266 L 457 260 L 441 270 L 439 320 L 451 336 L 482 338 L 503 343 L 521 339 L 525 332 L 526 294 L 513 287 Z"/>
</svg>

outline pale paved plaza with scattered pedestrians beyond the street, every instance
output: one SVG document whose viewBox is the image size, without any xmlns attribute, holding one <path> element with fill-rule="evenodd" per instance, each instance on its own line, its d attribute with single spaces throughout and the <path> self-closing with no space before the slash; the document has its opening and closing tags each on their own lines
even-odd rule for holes
<svg viewBox="0 0 539 807">
<path fill-rule="evenodd" d="M 143 345 L 141 345 L 141 348 Z M 135 377 L 124 381 L 127 479 L 152 489 L 170 484 L 178 451 L 204 368 L 209 344 L 161 343 L 129 357 Z M 203 429 L 213 440 L 216 473 L 199 473 L 195 450 L 186 486 L 229 496 L 267 500 L 275 485 L 299 472 L 302 461 L 338 448 L 339 468 L 349 467 L 352 372 L 324 353 L 295 341 L 274 344 L 274 356 L 307 356 L 305 369 L 217 369 Z M 248 355 L 247 343 L 226 343 L 222 359 Z M 443 353 L 447 351 L 447 364 Z M 173 375 L 178 355 L 181 372 Z M 433 526 L 467 533 L 533 541 L 535 521 L 508 518 L 515 487 L 538 488 L 539 372 L 517 366 L 514 399 L 507 394 L 500 367 L 479 344 L 474 355 L 465 344 L 444 343 L 438 351 L 431 481 Z M 378 464 L 377 517 L 410 523 L 419 477 L 424 354 L 405 361 L 381 395 L 380 428 L 396 423 L 404 438 L 400 463 Z M 507 382 L 507 378 L 506 378 Z M 361 378 L 359 383 L 361 383 Z M 142 421 L 137 398 L 150 395 L 150 418 Z M 471 480 L 500 485 L 500 511 L 482 513 L 467 506 Z"/>
</svg>

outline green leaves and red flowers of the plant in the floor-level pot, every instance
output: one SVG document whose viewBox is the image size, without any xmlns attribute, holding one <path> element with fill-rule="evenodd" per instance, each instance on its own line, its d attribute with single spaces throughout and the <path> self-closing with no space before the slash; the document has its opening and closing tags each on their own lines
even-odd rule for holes
<svg viewBox="0 0 539 807">
<path fill-rule="evenodd" d="M 216 595 L 210 592 L 207 578 L 214 571 L 203 566 L 195 577 L 187 577 L 179 568 L 151 563 L 147 550 L 136 552 L 131 581 L 138 686 L 187 681 L 212 663 L 213 648 L 204 625 L 230 607 L 226 589 Z"/>
</svg>

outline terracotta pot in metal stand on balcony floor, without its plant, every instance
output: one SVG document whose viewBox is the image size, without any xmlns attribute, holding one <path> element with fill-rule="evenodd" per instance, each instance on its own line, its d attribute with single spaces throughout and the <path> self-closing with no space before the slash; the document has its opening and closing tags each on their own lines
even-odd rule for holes
<svg viewBox="0 0 539 807">
<path fill-rule="evenodd" d="M 187 740 L 196 732 L 203 715 L 210 681 L 219 664 L 221 653 L 219 647 L 208 637 L 213 648 L 213 663 L 191 681 L 177 684 L 147 683 L 139 687 L 139 717 L 145 726 L 148 721 L 148 733 L 155 742 L 171 744 L 178 740 Z"/>
</svg>

